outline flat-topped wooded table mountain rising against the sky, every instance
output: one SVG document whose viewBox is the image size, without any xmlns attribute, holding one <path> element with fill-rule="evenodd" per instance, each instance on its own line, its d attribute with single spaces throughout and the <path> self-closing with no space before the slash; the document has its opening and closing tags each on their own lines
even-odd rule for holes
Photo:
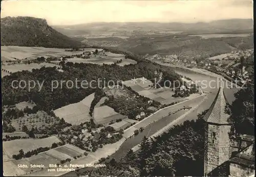
<svg viewBox="0 0 256 177">
<path fill-rule="evenodd" d="M 1 18 L 1 45 L 46 48 L 80 48 L 80 43 L 63 35 L 47 24 L 46 19 L 34 17 Z"/>
</svg>

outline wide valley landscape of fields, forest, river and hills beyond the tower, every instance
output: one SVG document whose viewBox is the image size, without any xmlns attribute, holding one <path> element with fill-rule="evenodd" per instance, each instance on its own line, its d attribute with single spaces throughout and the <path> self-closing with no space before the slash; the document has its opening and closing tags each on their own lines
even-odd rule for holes
<svg viewBox="0 0 256 177">
<path fill-rule="evenodd" d="M 123 163 L 131 149 L 141 152 L 146 138 L 157 142 L 183 124 L 195 126 L 184 128 L 191 130 L 185 139 L 200 143 L 198 117 L 214 102 L 219 78 L 231 83 L 221 72 L 244 64 L 236 77 L 253 79 L 243 75 L 245 69 L 254 73 L 251 29 L 248 19 L 51 27 L 41 18 L 1 18 L 4 174 L 96 171 L 84 164 Z M 240 89 L 223 90 L 232 104 Z M 201 153 L 188 144 L 194 151 L 184 154 Z M 50 164 L 78 167 L 58 171 Z"/>
</svg>

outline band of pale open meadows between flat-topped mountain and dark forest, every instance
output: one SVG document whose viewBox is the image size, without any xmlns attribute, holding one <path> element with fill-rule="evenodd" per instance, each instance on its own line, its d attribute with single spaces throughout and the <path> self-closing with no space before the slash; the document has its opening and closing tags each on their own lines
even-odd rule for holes
<svg viewBox="0 0 256 177">
<path fill-rule="evenodd" d="M 2 70 L 1 74 L 2 77 L 9 75 L 14 72 L 28 70 L 32 71 L 32 69 L 40 69 L 41 67 L 58 67 L 59 62 L 58 60 L 52 61 L 52 63 L 41 62 L 41 63 L 11 63 L 7 61 L 16 62 L 18 60 L 30 60 L 36 59 L 38 57 L 62 57 L 62 56 L 71 56 L 71 55 L 78 55 L 82 54 L 83 52 L 93 52 L 96 49 L 94 48 L 86 48 L 83 51 L 65 51 L 66 49 L 57 49 L 57 48 L 43 48 L 43 47 L 19 47 L 19 46 L 2 46 L 1 47 L 1 61 L 2 61 Z M 111 52 L 103 52 L 103 49 L 98 49 L 97 55 L 91 55 L 89 59 L 83 58 L 68 58 L 67 62 L 73 63 L 94 63 L 94 64 L 114 64 L 118 61 L 122 60 L 122 62 L 117 63 L 120 66 L 124 66 L 126 64 L 136 64 L 137 62 L 125 58 L 123 54 L 115 54 Z"/>
</svg>

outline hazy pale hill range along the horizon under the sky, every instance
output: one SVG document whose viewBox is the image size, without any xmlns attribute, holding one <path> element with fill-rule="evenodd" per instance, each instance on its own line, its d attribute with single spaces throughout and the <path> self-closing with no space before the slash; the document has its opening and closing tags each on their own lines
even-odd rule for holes
<svg viewBox="0 0 256 177">
<path fill-rule="evenodd" d="M 253 33 L 252 19 L 224 19 L 210 21 L 209 23 L 90 23 L 72 26 L 54 26 L 57 31 L 68 35 L 88 35 L 128 32 L 131 31 L 180 31 L 189 34 L 210 33 Z"/>
</svg>

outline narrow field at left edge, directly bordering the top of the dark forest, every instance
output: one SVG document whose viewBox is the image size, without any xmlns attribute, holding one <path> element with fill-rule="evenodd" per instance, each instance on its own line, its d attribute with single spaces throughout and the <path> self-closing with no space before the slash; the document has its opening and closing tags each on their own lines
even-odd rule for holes
<svg viewBox="0 0 256 177">
<path fill-rule="evenodd" d="M 31 64 L 24 64 L 24 63 L 16 63 L 16 64 L 3 64 L 2 63 L 2 69 L 7 70 L 9 72 L 15 73 L 18 71 L 23 71 L 23 70 L 28 70 L 32 71 L 32 69 L 40 69 L 42 67 L 58 67 L 56 64 L 53 63 L 47 63 L 47 62 L 42 62 L 40 64 L 38 63 L 31 63 Z M 9 75 L 6 72 L 1 71 L 2 77 Z"/>
</svg>

